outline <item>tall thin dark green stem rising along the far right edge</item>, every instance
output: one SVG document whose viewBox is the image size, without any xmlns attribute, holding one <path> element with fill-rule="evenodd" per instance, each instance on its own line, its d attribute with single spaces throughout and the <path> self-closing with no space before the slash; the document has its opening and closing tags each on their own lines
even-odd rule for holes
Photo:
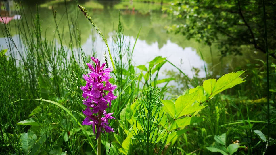
<svg viewBox="0 0 276 155">
<path fill-rule="evenodd" d="M 265 40 L 265 55 L 267 57 L 267 145 L 269 145 L 270 130 L 269 130 L 269 66 L 268 66 L 268 47 L 267 47 L 267 20 L 265 13 L 264 0 L 262 0 L 262 7 L 264 11 L 264 40 Z"/>
</svg>

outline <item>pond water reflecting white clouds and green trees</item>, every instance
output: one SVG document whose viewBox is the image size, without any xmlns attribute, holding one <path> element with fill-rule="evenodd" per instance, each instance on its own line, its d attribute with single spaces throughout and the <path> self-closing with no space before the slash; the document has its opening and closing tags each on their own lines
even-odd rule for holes
<svg viewBox="0 0 276 155">
<path fill-rule="evenodd" d="M 36 12 L 36 5 L 29 2 L 23 3 L 27 20 L 31 21 L 32 16 Z M 55 35 L 55 24 L 52 13 L 52 7 L 57 11 L 57 20 L 59 28 L 64 28 L 65 42 L 69 42 L 69 30 L 72 30 L 73 25 L 69 24 L 66 15 L 66 7 L 68 18 L 71 21 L 77 19 L 77 27 L 81 33 L 82 48 L 90 55 L 92 48 L 97 52 L 97 57 L 104 60 L 104 52 L 106 46 L 103 39 L 93 31 L 92 25 L 79 11 L 77 4 L 84 6 L 90 14 L 93 21 L 99 29 L 106 35 L 110 47 L 114 44 L 112 36 L 115 30 L 118 29 L 118 19 L 120 11 L 120 20 L 124 28 L 126 42 L 130 43 L 131 48 L 135 43 L 136 36 L 141 28 L 139 38 L 134 48 L 133 60 L 135 65 L 145 65 L 147 62 L 154 59 L 156 56 L 167 57 L 167 59 L 179 67 L 189 77 L 192 77 L 194 71 L 192 68 L 198 68 L 200 77 L 205 76 L 204 64 L 207 65 L 209 71 L 213 71 L 214 75 L 220 75 L 221 70 L 224 73 L 233 71 L 236 67 L 244 66 L 247 63 L 256 63 L 256 58 L 264 59 L 264 55 L 258 52 L 252 52 L 249 48 L 244 47 L 242 56 L 227 56 L 220 59 L 220 52 L 215 45 L 212 47 L 198 43 L 195 40 L 187 40 L 185 36 L 168 34 L 164 27 L 181 23 L 183 21 L 176 20 L 162 12 L 162 7 L 170 7 L 166 3 L 143 3 L 143 2 L 120 2 L 120 1 L 67 1 L 66 6 L 64 1 L 40 1 L 38 10 L 40 19 L 42 20 L 41 27 L 46 38 L 51 40 Z M 9 24 L 12 24 L 11 21 Z M 71 22 L 70 22 L 71 23 Z M 9 25 L 8 24 L 8 25 Z M 0 24 L 3 29 L 3 24 Z M 14 26 L 10 26 L 11 30 Z M 47 30 L 47 31 L 46 31 Z M 16 37 L 16 32 L 14 32 Z M 92 42 L 94 40 L 94 46 Z M 7 48 L 3 34 L 0 34 L 0 45 L 4 49 Z M 212 57 L 210 54 L 212 50 Z M 203 59 L 200 56 L 202 53 Z M 112 54 L 114 50 L 111 48 Z M 253 53 L 253 54 L 252 54 Z M 222 64 L 221 64 L 222 63 Z M 223 67 L 221 69 L 221 67 Z M 165 69 L 176 69 L 166 63 L 162 71 Z M 164 76 L 164 74 L 163 74 Z"/>
</svg>

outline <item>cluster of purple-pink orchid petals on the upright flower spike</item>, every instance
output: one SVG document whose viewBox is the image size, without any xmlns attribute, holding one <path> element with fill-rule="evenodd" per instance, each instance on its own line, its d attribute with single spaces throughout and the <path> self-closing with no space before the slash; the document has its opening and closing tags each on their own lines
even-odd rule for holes
<svg viewBox="0 0 276 155">
<path fill-rule="evenodd" d="M 86 118 L 82 125 L 92 125 L 94 134 L 97 131 L 96 139 L 98 139 L 100 132 L 114 132 L 113 128 L 108 126 L 108 119 L 115 118 L 111 116 L 113 113 L 106 113 L 106 108 L 108 108 L 108 104 L 111 107 L 111 101 L 117 98 L 112 93 L 117 86 L 108 81 L 111 78 L 109 75 L 111 69 L 104 69 L 106 63 L 101 65 L 97 58 L 92 57 L 91 59 L 95 62 L 95 66 L 86 63 L 91 71 L 87 75 L 83 75 L 86 85 L 80 87 L 83 90 L 82 96 L 85 98 L 83 104 L 87 106 L 83 111 Z M 104 117 L 101 117 L 101 123 L 99 123 L 98 116 L 102 115 Z"/>
</svg>

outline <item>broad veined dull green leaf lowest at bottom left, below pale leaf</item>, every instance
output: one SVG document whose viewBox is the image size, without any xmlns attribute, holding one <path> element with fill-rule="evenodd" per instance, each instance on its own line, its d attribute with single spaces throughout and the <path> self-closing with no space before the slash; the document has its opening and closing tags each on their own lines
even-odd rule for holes
<svg viewBox="0 0 276 155">
<path fill-rule="evenodd" d="M 22 133 L 20 136 L 22 143 L 22 151 L 24 154 L 29 154 L 34 146 L 35 141 L 37 140 L 37 135 L 34 132 L 28 130 L 28 133 Z"/>
</svg>

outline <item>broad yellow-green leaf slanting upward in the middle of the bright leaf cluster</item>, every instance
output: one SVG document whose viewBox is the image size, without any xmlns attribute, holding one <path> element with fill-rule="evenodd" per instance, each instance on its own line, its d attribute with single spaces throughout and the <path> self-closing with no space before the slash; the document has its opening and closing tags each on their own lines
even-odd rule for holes
<svg viewBox="0 0 276 155">
<path fill-rule="evenodd" d="M 193 92 L 191 94 L 185 94 L 177 98 L 175 101 L 175 119 L 179 118 L 179 115 L 185 108 L 188 108 L 196 101 L 198 98 L 198 91 Z"/>
</svg>

